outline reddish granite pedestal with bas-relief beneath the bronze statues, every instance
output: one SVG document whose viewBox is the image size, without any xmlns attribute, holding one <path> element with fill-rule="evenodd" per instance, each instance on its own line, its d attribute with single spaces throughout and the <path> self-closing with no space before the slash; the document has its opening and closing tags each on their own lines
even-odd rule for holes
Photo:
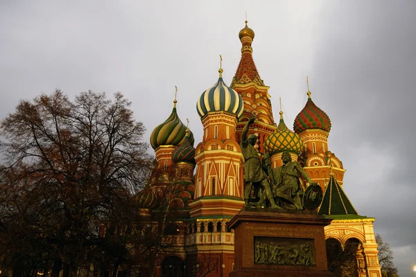
<svg viewBox="0 0 416 277">
<path fill-rule="evenodd" d="M 229 276 L 333 276 L 324 237 L 330 222 L 315 211 L 244 208 L 228 224 L 235 238 Z"/>
</svg>

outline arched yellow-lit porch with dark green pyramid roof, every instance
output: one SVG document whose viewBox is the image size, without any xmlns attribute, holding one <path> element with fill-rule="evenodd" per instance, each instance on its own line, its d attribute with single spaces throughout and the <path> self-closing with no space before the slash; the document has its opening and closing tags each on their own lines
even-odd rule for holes
<svg viewBox="0 0 416 277">
<path fill-rule="evenodd" d="M 332 167 L 318 214 L 332 219 L 331 224 L 324 227 L 327 251 L 331 244 L 328 242 L 332 241 L 339 244 L 341 249 L 347 249 L 347 244 L 356 241 L 358 246 L 354 249 L 356 260 L 353 262 L 356 262 L 358 276 L 381 276 L 373 226 L 375 219 L 358 215 L 343 187 L 338 184 Z"/>
</svg>

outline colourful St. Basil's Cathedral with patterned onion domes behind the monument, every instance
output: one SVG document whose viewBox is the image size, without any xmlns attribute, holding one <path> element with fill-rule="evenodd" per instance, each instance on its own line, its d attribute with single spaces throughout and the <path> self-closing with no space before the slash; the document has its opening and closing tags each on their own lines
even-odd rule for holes
<svg viewBox="0 0 416 277">
<path fill-rule="evenodd" d="M 289 152 L 292 160 L 298 161 L 321 186 L 324 195 L 318 214 L 332 220 L 324 229 L 327 251 L 328 246 L 345 250 L 356 245 L 354 276 L 381 276 L 374 217 L 359 215 L 343 190 L 345 169 L 328 144 L 329 116 L 315 105 L 308 90 L 308 100 L 297 114 L 293 130 L 284 122 L 282 111 L 275 123 L 269 87 L 253 60 L 254 31 L 247 23 L 239 32 L 241 60 L 231 84 L 225 84 L 220 68 L 218 81 L 196 103 L 203 126 L 202 141 L 194 147 L 193 133 L 177 115 L 176 99 L 171 114 L 150 136 L 156 167 L 165 174 L 146 192 L 156 195 L 162 189 L 159 186 L 168 186 L 173 192 L 170 207 L 177 211 L 177 225 L 170 233 L 174 250 L 160 257 L 156 274 L 189 276 L 185 271 L 200 270 L 200 276 L 229 276 L 233 270 L 234 230 L 227 228 L 227 222 L 245 204 L 245 161 L 240 142 L 243 127 L 255 115 L 257 120 L 248 134 L 257 136 L 254 148 L 259 156 L 268 153 L 272 168 L 276 168 L 283 164 L 281 154 Z M 304 188 L 308 185 L 302 180 Z M 157 202 L 150 195 L 141 199 L 142 212 L 150 211 Z"/>
</svg>

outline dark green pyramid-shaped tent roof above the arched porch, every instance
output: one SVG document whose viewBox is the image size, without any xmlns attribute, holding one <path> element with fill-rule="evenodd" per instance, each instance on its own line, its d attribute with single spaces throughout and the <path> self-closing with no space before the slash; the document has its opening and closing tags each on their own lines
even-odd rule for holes
<svg viewBox="0 0 416 277">
<path fill-rule="evenodd" d="M 330 163 L 331 171 L 329 173 L 329 183 L 325 190 L 324 199 L 319 208 L 320 215 L 358 215 L 354 206 L 352 206 L 343 188 L 335 179 L 332 171 L 332 163 Z"/>
</svg>

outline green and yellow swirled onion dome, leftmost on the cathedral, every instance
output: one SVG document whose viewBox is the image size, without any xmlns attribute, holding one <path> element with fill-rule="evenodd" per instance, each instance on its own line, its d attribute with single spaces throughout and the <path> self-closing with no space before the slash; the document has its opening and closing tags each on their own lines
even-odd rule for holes
<svg viewBox="0 0 416 277">
<path fill-rule="evenodd" d="M 173 110 L 164 123 L 157 126 L 150 135 L 150 145 L 153 149 L 160 145 L 182 145 L 185 142 L 187 125 L 184 125 L 177 116 L 176 98 L 173 100 Z M 194 139 L 192 132 L 189 132 L 189 143 L 193 145 Z"/>
</svg>

